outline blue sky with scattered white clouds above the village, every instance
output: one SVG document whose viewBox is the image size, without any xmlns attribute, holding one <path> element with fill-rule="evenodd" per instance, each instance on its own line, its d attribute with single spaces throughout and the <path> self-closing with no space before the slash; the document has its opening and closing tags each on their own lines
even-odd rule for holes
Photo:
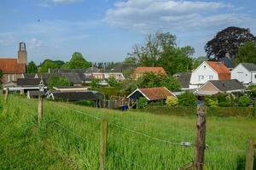
<svg viewBox="0 0 256 170">
<path fill-rule="evenodd" d="M 255 0 L 0 0 L 0 57 L 67 61 L 79 51 L 92 61 L 122 61 L 147 34 L 168 31 L 178 46 L 204 46 L 228 26 L 256 35 Z"/>
</svg>

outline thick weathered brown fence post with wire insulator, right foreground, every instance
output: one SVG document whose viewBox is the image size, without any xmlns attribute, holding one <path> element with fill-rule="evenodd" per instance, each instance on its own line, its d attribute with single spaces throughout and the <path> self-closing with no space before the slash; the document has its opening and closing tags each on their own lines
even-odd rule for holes
<svg viewBox="0 0 256 170">
<path fill-rule="evenodd" d="M 204 156 L 206 149 L 206 123 L 207 117 L 205 107 L 197 107 L 196 139 L 195 139 L 195 170 L 202 170 L 204 167 Z"/>
</svg>

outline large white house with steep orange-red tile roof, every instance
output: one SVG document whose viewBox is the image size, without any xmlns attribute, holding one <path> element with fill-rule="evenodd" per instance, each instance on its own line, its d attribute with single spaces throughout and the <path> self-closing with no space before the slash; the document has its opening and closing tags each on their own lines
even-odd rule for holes
<svg viewBox="0 0 256 170">
<path fill-rule="evenodd" d="M 230 80 L 230 77 L 230 69 L 222 62 L 204 61 L 191 73 L 189 88 L 200 88 L 211 80 Z"/>
</svg>

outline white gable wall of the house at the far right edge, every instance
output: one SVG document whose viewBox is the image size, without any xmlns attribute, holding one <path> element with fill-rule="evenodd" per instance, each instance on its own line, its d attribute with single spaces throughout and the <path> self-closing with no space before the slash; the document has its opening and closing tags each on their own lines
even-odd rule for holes
<svg viewBox="0 0 256 170">
<path fill-rule="evenodd" d="M 231 71 L 231 79 L 237 79 L 239 82 L 247 84 L 252 82 L 252 73 L 247 71 L 243 65 L 239 64 L 233 71 Z"/>
</svg>

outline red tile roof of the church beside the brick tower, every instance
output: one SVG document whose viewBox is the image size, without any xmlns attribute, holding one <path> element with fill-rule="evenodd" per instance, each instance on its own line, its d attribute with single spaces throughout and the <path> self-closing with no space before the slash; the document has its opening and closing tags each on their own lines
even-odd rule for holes
<svg viewBox="0 0 256 170">
<path fill-rule="evenodd" d="M 26 72 L 26 65 L 19 64 L 17 59 L 0 59 L 0 70 L 3 73 L 25 73 Z"/>
</svg>

